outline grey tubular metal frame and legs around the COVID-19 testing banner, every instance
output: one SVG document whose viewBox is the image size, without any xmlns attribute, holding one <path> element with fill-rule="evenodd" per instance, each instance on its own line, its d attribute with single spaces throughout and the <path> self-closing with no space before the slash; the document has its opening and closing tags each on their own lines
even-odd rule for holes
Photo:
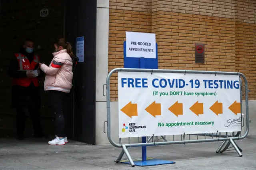
<svg viewBox="0 0 256 170">
<path fill-rule="evenodd" d="M 235 150 L 239 154 L 239 156 L 242 156 L 242 154 L 241 154 L 242 150 L 238 147 L 236 142 L 234 142 L 234 140 L 245 138 L 248 135 L 249 129 L 250 129 L 249 128 L 248 81 L 247 81 L 246 77 L 242 73 L 239 73 L 239 72 L 220 72 L 220 71 L 192 71 L 192 70 L 186 70 L 185 71 L 185 70 L 163 70 L 163 69 L 116 68 L 116 69 L 113 69 L 112 71 L 110 71 L 110 73 L 108 74 L 107 79 L 106 79 L 106 82 L 107 82 L 106 83 L 107 84 L 107 121 L 108 121 L 108 123 L 107 123 L 107 136 L 108 136 L 109 142 L 113 146 L 122 148 L 124 154 L 126 154 L 126 156 L 127 156 L 127 158 L 128 158 L 128 160 L 129 160 L 129 162 L 130 162 L 132 167 L 134 167 L 135 165 L 134 165 L 134 162 L 133 162 L 132 158 L 130 157 L 130 154 L 129 154 L 128 150 L 127 150 L 127 147 L 160 146 L 160 145 L 168 145 L 168 144 L 184 144 L 184 141 L 182 141 L 182 140 L 181 141 L 168 141 L 168 142 L 155 142 L 154 141 L 154 142 L 139 143 L 139 140 L 138 140 L 137 144 L 117 144 L 116 142 L 114 142 L 112 140 L 112 138 L 111 138 L 111 129 L 110 129 L 110 125 L 111 125 L 111 119 L 110 119 L 110 77 L 111 77 L 111 75 L 113 73 L 116 73 L 118 71 L 150 72 L 150 73 L 186 73 L 186 74 L 188 74 L 188 73 L 197 74 L 198 73 L 198 74 L 215 74 L 215 75 L 239 75 L 240 77 L 242 77 L 244 79 L 244 88 L 245 88 L 245 108 L 246 108 L 246 132 L 245 132 L 245 134 L 243 136 L 242 135 L 239 136 L 240 133 L 237 133 L 238 136 L 233 136 L 233 137 L 226 136 L 226 137 L 223 137 L 223 138 L 213 138 L 213 133 L 212 133 L 212 138 L 211 139 L 186 140 L 186 144 L 189 144 L 189 143 L 228 141 L 228 143 L 233 145 L 233 147 L 235 148 Z M 242 103 L 242 101 L 241 101 L 241 103 Z M 241 117 L 242 117 L 242 113 L 241 113 Z M 174 135 L 173 135 L 173 140 L 174 140 Z M 222 142 L 223 146 L 224 146 L 224 144 L 225 143 Z M 218 150 L 221 150 L 221 147 L 219 147 Z M 124 155 L 124 154 L 122 154 L 123 152 L 121 152 L 121 154 L 119 155 L 120 158 L 122 158 L 122 156 Z M 118 159 L 118 160 L 120 160 L 120 159 Z"/>
</svg>

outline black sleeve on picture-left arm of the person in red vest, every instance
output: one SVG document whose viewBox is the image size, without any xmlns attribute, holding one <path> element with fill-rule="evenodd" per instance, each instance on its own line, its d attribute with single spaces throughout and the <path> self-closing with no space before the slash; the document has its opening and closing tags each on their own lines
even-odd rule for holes
<svg viewBox="0 0 256 170">
<path fill-rule="evenodd" d="M 26 71 L 18 71 L 19 62 L 17 58 L 14 56 L 11 58 L 10 65 L 9 65 L 9 75 L 12 78 L 22 78 L 27 77 Z"/>
</svg>

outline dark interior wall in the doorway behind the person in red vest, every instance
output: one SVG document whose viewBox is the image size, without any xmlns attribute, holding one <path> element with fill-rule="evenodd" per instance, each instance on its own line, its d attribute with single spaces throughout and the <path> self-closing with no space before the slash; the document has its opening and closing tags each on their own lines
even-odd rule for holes
<svg viewBox="0 0 256 170">
<path fill-rule="evenodd" d="M 41 18 L 39 11 L 49 9 L 49 16 Z M 15 132 L 15 111 L 10 108 L 11 79 L 7 74 L 10 57 L 18 52 L 24 38 L 30 36 L 35 42 L 35 51 L 42 61 L 52 59 L 53 40 L 63 36 L 64 0 L 19 0 L 2 1 L 0 6 L 0 136 Z M 40 45 L 40 49 L 37 46 Z M 40 84 L 43 85 L 44 78 Z M 52 129 L 52 112 L 48 108 L 48 96 L 42 88 L 42 123 Z M 29 119 L 28 119 L 29 120 Z M 32 128 L 27 128 L 30 131 Z"/>
</svg>

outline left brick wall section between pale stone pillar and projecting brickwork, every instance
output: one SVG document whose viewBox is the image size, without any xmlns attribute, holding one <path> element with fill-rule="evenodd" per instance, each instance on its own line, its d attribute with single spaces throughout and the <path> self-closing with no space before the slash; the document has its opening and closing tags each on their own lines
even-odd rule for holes
<svg viewBox="0 0 256 170">
<path fill-rule="evenodd" d="M 151 0 L 110 0 L 108 69 L 124 66 L 125 32 L 151 32 Z M 111 101 L 118 101 L 117 74 L 111 77 Z"/>
</svg>

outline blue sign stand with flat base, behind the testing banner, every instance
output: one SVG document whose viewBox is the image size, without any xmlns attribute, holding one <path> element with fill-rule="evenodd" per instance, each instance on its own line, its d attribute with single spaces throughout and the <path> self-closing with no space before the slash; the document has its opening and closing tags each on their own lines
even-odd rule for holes
<svg viewBox="0 0 256 170">
<path fill-rule="evenodd" d="M 138 69 L 158 69 L 158 50 L 156 43 L 156 58 L 136 58 L 136 57 L 127 57 L 126 56 L 126 42 L 124 42 L 124 68 L 138 68 Z M 142 143 L 147 142 L 146 137 L 141 137 Z M 120 161 L 124 164 L 130 164 L 127 161 Z M 134 160 L 136 166 L 154 166 L 154 165 L 163 165 L 163 164 L 175 164 L 174 161 L 168 160 L 159 160 L 147 158 L 147 147 L 142 146 L 142 159 Z"/>
</svg>

